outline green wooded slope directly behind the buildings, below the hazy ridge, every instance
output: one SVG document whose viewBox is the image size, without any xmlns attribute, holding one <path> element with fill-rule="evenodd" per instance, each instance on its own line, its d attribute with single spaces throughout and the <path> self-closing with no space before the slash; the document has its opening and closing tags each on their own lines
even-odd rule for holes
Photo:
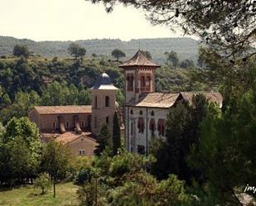
<svg viewBox="0 0 256 206">
<path fill-rule="evenodd" d="M 90 104 L 89 88 L 99 74 L 106 72 L 120 89 L 118 102 L 123 102 L 121 62 L 106 57 L 84 60 L 24 57 L 0 60 L 0 121 L 27 116 L 34 105 Z M 193 67 L 174 68 L 164 64 L 157 69 L 157 91 L 176 92 L 205 90 L 205 84 L 193 79 Z"/>
</svg>

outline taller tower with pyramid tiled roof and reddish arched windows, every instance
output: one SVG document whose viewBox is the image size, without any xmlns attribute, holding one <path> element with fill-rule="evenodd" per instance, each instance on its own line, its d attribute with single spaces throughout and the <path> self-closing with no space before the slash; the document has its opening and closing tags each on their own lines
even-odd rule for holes
<svg viewBox="0 0 256 206">
<path fill-rule="evenodd" d="M 138 102 L 141 93 L 155 92 L 155 70 L 160 67 L 138 50 L 132 59 L 119 66 L 123 69 L 125 84 L 125 103 Z"/>
</svg>

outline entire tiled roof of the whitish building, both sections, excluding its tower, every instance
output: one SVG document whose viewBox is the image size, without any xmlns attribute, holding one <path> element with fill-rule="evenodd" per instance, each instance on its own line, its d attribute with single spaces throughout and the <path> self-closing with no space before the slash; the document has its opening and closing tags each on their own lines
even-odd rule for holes
<svg viewBox="0 0 256 206">
<path fill-rule="evenodd" d="M 130 107 L 142 107 L 142 108 L 171 108 L 176 100 L 181 96 L 189 103 L 192 103 L 193 95 L 198 93 L 142 93 L 138 99 L 138 103 L 135 103 L 135 99 L 132 98 L 126 106 Z M 208 101 L 217 103 L 221 108 L 223 98 L 220 93 L 202 93 Z"/>
</svg>

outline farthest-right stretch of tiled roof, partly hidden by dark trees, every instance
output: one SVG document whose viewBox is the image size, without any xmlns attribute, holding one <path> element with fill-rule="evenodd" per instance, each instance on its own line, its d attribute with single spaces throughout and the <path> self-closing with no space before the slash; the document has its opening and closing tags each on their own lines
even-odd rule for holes
<svg viewBox="0 0 256 206">
<path fill-rule="evenodd" d="M 189 103 L 192 103 L 192 98 L 193 95 L 196 95 L 199 93 L 181 93 L 182 97 L 188 101 Z M 206 93 L 206 92 L 201 92 L 201 94 L 205 95 L 205 98 L 212 103 L 216 103 L 220 108 L 222 107 L 222 101 L 223 101 L 223 97 L 220 93 Z"/>
</svg>

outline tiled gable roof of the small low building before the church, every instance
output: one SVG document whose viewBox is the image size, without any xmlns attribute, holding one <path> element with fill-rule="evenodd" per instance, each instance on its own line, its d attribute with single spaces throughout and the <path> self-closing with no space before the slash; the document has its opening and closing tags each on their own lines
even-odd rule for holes
<svg viewBox="0 0 256 206">
<path fill-rule="evenodd" d="M 61 134 L 59 137 L 56 137 L 55 141 L 62 142 L 63 144 L 68 144 L 71 141 L 75 141 L 76 139 L 80 137 L 85 137 L 86 139 L 89 139 L 90 141 L 95 141 L 93 138 L 89 137 L 91 135 L 90 132 L 83 132 L 82 134 L 77 134 L 75 132 L 65 132 Z"/>
</svg>

